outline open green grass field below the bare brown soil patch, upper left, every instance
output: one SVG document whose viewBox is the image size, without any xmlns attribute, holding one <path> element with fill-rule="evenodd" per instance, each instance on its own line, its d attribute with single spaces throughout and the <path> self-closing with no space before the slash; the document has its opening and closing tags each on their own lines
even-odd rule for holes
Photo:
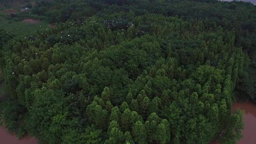
<svg viewBox="0 0 256 144">
<path fill-rule="evenodd" d="M 7 17 L 7 13 L 0 11 L 0 28 L 15 36 L 31 36 L 37 30 L 44 30 L 48 27 L 48 23 L 45 21 L 40 21 L 39 23 L 26 23 L 9 20 Z"/>
</svg>

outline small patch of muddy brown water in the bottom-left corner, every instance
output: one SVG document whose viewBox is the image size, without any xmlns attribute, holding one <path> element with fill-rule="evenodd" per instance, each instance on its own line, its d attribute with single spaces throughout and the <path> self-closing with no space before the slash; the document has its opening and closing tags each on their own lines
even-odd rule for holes
<svg viewBox="0 0 256 144">
<path fill-rule="evenodd" d="M 6 128 L 0 126 L 0 144 L 37 144 L 37 139 L 26 136 L 19 140 L 16 135 L 10 134 Z"/>
</svg>

